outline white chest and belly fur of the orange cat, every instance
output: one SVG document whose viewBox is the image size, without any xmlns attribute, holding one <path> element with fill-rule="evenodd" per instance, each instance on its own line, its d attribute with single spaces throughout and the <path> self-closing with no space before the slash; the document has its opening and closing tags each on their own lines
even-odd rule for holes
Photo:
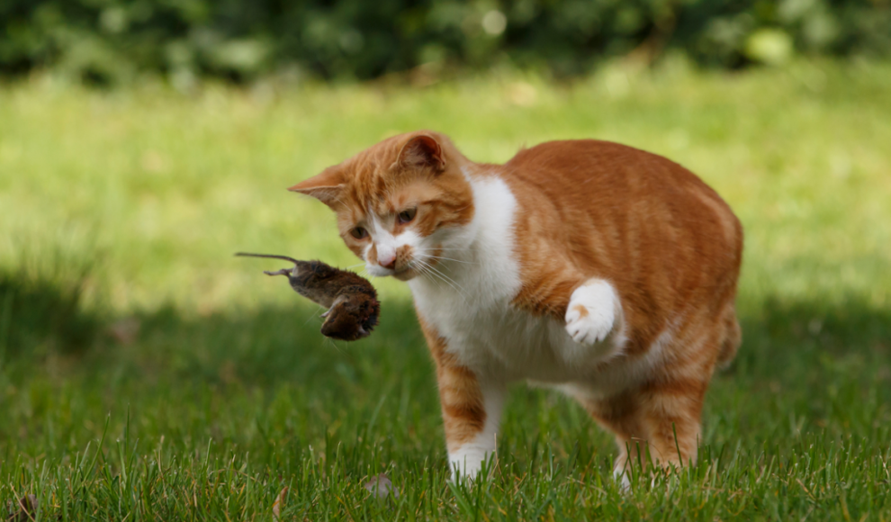
<svg viewBox="0 0 891 522">
<path fill-rule="evenodd" d="M 460 234 L 443 243 L 437 269 L 443 277 L 409 282 L 419 313 L 446 338 L 447 349 L 474 372 L 497 380 L 590 383 L 594 368 L 621 343 L 607 338 L 581 359 L 565 325 L 519 311 L 520 290 L 514 216 L 517 201 L 497 177 L 472 180 L 475 215 Z"/>
</svg>

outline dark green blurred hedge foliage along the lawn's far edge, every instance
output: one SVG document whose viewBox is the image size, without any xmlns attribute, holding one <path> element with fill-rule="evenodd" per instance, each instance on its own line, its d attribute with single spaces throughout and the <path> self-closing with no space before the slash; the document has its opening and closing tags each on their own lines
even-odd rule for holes
<svg viewBox="0 0 891 522">
<path fill-rule="evenodd" d="M 805 53 L 891 52 L 879 0 L 5 0 L 0 71 L 58 67 L 105 84 L 139 71 L 372 78 L 506 63 L 556 75 L 680 49 L 739 67 Z"/>
</svg>

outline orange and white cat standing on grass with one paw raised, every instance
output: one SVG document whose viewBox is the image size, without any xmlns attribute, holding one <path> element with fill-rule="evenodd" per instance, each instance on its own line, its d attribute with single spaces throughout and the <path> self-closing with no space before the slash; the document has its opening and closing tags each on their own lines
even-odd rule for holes
<svg viewBox="0 0 891 522">
<path fill-rule="evenodd" d="M 647 446 L 654 464 L 695 462 L 708 382 L 740 343 L 743 230 L 689 170 L 590 139 L 480 164 L 423 130 L 291 190 L 337 212 L 371 275 L 408 282 L 455 474 L 494 451 L 517 380 L 563 390 L 611 430 L 620 480 Z"/>
</svg>

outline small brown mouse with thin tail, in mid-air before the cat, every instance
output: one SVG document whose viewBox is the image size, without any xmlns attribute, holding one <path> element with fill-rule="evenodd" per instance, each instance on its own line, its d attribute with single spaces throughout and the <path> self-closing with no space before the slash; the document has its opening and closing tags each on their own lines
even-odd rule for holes
<svg viewBox="0 0 891 522">
<path fill-rule="evenodd" d="M 377 325 L 381 303 L 374 286 L 360 275 L 326 265 L 321 261 L 299 261 L 292 257 L 238 252 L 236 256 L 284 259 L 294 264 L 266 275 L 287 275 L 296 293 L 328 309 L 322 314 L 321 333 L 329 338 L 355 341 L 368 337 Z"/>
</svg>

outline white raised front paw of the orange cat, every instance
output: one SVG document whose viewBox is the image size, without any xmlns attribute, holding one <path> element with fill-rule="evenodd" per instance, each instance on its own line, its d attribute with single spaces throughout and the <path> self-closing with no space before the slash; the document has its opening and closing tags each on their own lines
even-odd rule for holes
<svg viewBox="0 0 891 522">
<path fill-rule="evenodd" d="M 584 284 L 572 293 L 566 309 L 566 332 L 582 345 L 606 339 L 616 325 L 617 296 L 605 281 Z"/>
</svg>

